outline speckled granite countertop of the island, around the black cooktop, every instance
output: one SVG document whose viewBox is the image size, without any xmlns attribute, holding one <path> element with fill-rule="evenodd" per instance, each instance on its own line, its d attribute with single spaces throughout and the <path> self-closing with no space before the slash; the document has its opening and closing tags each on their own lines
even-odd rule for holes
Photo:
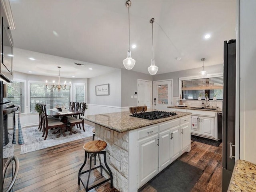
<svg viewBox="0 0 256 192">
<path fill-rule="evenodd" d="M 152 111 L 152 110 L 147 110 L 146 112 L 149 112 L 149 111 Z M 130 112 L 124 111 L 124 112 L 116 112 L 116 113 L 88 115 L 88 116 L 82 116 L 81 118 L 122 133 L 130 130 L 138 129 L 141 127 L 149 126 L 152 124 L 172 120 L 182 116 L 190 115 L 191 113 L 176 112 L 176 114 L 177 115 L 166 117 L 166 118 L 148 120 L 148 119 L 143 119 L 138 117 L 131 117 Z"/>
</svg>

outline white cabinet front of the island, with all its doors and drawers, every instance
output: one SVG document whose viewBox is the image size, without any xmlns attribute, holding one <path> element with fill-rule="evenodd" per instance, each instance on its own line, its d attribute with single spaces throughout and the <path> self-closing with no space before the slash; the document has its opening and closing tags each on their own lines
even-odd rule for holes
<svg viewBox="0 0 256 192">
<path fill-rule="evenodd" d="M 190 122 L 189 115 L 136 132 L 138 188 L 190 150 Z"/>
</svg>

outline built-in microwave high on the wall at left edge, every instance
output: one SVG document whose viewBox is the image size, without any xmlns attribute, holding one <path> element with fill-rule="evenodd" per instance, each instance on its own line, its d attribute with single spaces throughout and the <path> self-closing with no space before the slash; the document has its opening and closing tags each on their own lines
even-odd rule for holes
<svg viewBox="0 0 256 192">
<path fill-rule="evenodd" d="M 13 79 L 13 40 L 10 27 L 1 7 L 0 11 L 0 80 L 11 82 Z"/>
</svg>

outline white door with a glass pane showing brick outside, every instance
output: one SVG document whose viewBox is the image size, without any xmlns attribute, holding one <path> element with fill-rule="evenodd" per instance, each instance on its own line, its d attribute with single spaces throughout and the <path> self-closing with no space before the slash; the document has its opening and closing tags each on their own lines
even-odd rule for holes
<svg viewBox="0 0 256 192">
<path fill-rule="evenodd" d="M 154 82 L 154 109 L 168 110 L 172 106 L 172 80 Z"/>
</svg>

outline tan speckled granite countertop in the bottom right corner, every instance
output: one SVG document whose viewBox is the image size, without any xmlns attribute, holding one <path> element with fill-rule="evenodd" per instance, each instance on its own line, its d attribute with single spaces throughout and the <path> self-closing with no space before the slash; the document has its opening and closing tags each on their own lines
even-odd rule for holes
<svg viewBox="0 0 256 192">
<path fill-rule="evenodd" d="M 228 192 L 256 191 L 256 164 L 237 160 L 229 183 Z"/>
</svg>

